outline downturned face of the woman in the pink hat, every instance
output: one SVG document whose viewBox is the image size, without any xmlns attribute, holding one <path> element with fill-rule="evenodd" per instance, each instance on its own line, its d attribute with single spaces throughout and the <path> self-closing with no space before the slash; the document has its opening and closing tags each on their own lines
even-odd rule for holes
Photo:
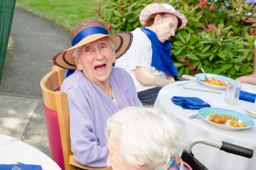
<svg viewBox="0 0 256 170">
<path fill-rule="evenodd" d="M 155 22 L 156 36 L 162 43 L 175 35 L 175 31 L 179 24 L 177 16 L 170 13 L 167 13 L 164 16 L 157 15 Z"/>
</svg>

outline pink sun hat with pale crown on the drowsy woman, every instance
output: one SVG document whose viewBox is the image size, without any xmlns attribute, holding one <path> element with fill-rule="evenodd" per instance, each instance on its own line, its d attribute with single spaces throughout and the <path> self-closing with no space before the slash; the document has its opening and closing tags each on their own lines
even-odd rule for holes
<svg viewBox="0 0 256 170">
<path fill-rule="evenodd" d="M 146 26 L 146 21 L 149 18 L 149 16 L 155 13 L 171 13 L 177 16 L 179 20 L 182 22 L 179 29 L 185 27 L 188 22 L 185 16 L 179 11 L 176 11 L 173 6 L 169 4 L 152 3 L 144 7 L 143 10 L 140 12 L 140 24 Z"/>
</svg>

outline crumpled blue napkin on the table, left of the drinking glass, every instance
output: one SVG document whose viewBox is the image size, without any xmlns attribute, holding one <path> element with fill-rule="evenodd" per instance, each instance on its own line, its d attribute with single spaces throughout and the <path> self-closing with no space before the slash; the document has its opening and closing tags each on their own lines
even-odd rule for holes
<svg viewBox="0 0 256 170">
<path fill-rule="evenodd" d="M 193 98 L 193 97 L 182 97 L 182 96 L 173 96 L 171 98 L 174 104 L 182 106 L 183 109 L 201 109 L 206 107 L 211 107 L 208 103 L 205 103 L 202 99 Z"/>
</svg>

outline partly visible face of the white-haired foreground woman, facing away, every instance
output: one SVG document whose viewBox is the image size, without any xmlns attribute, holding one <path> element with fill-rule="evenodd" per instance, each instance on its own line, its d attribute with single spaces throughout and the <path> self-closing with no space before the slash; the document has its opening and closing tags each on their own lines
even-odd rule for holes
<svg viewBox="0 0 256 170">
<path fill-rule="evenodd" d="M 109 157 L 107 158 L 107 167 L 113 170 L 139 170 L 136 167 L 129 166 L 124 162 L 124 158 L 120 148 L 120 128 L 114 128 L 110 132 L 107 148 L 109 149 Z"/>
</svg>

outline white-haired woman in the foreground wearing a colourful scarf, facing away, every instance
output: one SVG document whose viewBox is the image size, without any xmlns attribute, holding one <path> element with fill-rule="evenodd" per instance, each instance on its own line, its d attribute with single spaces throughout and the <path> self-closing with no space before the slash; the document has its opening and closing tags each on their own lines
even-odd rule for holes
<svg viewBox="0 0 256 170">
<path fill-rule="evenodd" d="M 159 108 L 128 107 L 107 120 L 107 166 L 113 170 L 191 170 L 179 158 L 181 127 Z"/>
</svg>

